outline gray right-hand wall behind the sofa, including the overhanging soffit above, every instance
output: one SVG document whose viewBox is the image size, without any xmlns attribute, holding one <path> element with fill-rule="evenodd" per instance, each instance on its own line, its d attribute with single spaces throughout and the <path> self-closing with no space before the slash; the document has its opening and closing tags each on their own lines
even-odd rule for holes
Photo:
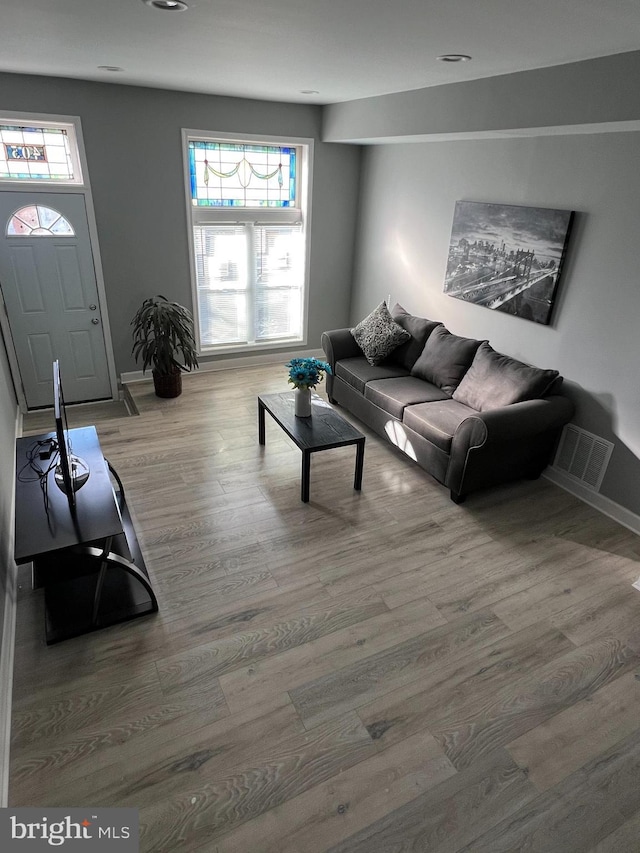
<svg viewBox="0 0 640 853">
<path fill-rule="evenodd" d="M 351 320 L 381 298 L 558 368 L 575 422 L 615 443 L 601 494 L 640 515 L 640 51 L 332 104 L 363 161 Z M 411 144 L 409 144 L 411 143 Z M 456 200 L 577 212 L 552 325 L 442 293 Z"/>
</svg>

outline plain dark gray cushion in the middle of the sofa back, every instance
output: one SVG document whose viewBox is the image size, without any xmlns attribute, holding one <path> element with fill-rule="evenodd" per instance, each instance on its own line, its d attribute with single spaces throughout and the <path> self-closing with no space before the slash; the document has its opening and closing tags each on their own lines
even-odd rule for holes
<svg viewBox="0 0 640 853">
<path fill-rule="evenodd" d="M 440 323 L 427 338 L 411 375 L 426 379 L 451 396 L 471 366 L 479 346 L 480 341 L 452 335 Z"/>
</svg>

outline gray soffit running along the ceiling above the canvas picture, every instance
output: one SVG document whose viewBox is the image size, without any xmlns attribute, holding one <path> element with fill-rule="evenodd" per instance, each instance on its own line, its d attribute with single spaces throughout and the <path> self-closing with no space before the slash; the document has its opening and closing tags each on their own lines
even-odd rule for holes
<svg viewBox="0 0 640 853">
<path fill-rule="evenodd" d="M 324 139 L 503 136 L 640 120 L 640 51 L 331 104 Z M 622 129 L 622 127 L 620 127 Z"/>
</svg>

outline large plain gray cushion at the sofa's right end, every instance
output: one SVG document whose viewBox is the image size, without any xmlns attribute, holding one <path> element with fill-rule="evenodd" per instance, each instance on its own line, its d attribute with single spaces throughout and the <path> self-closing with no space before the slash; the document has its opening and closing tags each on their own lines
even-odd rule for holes
<svg viewBox="0 0 640 853">
<path fill-rule="evenodd" d="M 554 385 L 557 370 L 541 370 L 496 352 L 485 341 L 456 388 L 453 399 L 479 412 L 523 400 L 537 400 Z"/>
</svg>

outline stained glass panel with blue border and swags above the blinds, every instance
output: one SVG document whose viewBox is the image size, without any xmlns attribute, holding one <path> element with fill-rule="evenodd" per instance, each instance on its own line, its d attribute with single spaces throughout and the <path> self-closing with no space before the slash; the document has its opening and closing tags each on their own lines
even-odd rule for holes
<svg viewBox="0 0 640 853">
<path fill-rule="evenodd" d="M 195 207 L 295 207 L 296 149 L 233 142 L 189 142 Z"/>
</svg>

